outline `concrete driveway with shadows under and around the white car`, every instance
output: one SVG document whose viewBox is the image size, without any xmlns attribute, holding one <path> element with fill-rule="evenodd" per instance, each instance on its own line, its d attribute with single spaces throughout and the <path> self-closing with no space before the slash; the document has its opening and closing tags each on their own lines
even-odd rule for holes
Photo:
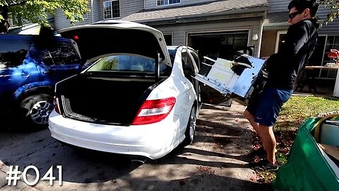
<svg viewBox="0 0 339 191">
<path fill-rule="evenodd" d="M 13 123 L 0 130 L 0 190 L 270 190 L 255 183 L 251 161 L 252 132 L 242 117 L 244 107 L 203 105 L 196 141 L 156 161 L 131 162 L 129 156 L 59 146 L 49 130 L 25 132 Z M 23 128 L 21 128 L 23 129 Z M 6 172 L 18 166 L 37 167 L 40 181 L 27 185 L 23 173 L 16 186 L 8 186 Z M 54 166 L 53 185 L 41 180 Z M 62 167 L 62 185 L 58 184 Z M 26 176 L 35 180 L 35 171 Z"/>
</svg>

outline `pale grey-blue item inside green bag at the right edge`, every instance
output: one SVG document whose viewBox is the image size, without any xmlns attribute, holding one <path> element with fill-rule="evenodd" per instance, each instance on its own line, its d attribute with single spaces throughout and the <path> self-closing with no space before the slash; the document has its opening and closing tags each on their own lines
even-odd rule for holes
<svg viewBox="0 0 339 191">
<path fill-rule="evenodd" d="M 339 146 L 339 121 L 325 122 L 321 125 L 319 142 L 321 144 Z"/>
</svg>

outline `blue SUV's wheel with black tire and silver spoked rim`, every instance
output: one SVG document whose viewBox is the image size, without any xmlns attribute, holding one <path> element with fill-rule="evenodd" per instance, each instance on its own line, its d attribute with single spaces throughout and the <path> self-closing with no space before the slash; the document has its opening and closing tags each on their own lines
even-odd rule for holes
<svg viewBox="0 0 339 191">
<path fill-rule="evenodd" d="M 53 109 L 53 98 L 47 94 L 29 96 L 20 103 L 21 115 L 34 129 L 47 128 L 48 117 Z"/>
</svg>

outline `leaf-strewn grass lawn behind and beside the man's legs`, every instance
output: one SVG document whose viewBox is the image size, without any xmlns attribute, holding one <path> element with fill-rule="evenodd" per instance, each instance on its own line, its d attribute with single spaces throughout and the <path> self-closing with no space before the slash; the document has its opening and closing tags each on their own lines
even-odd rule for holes
<svg viewBox="0 0 339 191">
<path fill-rule="evenodd" d="M 299 125 L 309 117 L 326 115 L 326 112 L 339 112 L 339 100 L 333 100 L 316 96 L 292 96 L 283 105 L 278 121 L 273 130 L 278 142 L 276 155 L 281 166 L 287 162 L 287 154 L 297 135 Z M 275 178 L 275 173 L 258 172 L 257 180 L 261 183 L 270 183 Z"/>
</svg>

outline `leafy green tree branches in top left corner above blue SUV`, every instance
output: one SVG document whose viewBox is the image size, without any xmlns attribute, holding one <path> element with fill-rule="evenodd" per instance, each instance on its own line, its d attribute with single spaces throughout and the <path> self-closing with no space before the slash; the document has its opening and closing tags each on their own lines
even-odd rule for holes
<svg viewBox="0 0 339 191">
<path fill-rule="evenodd" d="M 49 26 L 47 14 L 60 8 L 71 23 L 83 20 L 90 11 L 88 0 L 0 0 L 0 33 L 8 33 L 8 17 L 16 18 L 18 25 L 23 21 Z"/>
</svg>

